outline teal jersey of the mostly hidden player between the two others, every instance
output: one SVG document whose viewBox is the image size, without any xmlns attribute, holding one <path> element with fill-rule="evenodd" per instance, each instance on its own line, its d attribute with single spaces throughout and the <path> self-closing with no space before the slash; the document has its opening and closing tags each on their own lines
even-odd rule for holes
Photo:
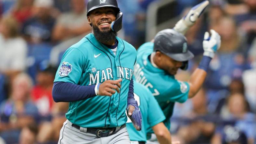
<svg viewBox="0 0 256 144">
<path fill-rule="evenodd" d="M 128 118 L 126 128 L 132 141 L 147 141 L 147 129 L 165 120 L 165 116 L 152 93 L 134 81 L 134 98 L 142 114 L 142 129 L 137 131 Z"/>
</svg>

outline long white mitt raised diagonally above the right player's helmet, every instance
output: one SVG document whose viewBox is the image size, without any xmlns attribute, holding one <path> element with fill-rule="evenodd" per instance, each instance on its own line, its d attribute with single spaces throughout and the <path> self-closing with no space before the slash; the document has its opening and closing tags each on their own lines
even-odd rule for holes
<svg viewBox="0 0 256 144">
<path fill-rule="evenodd" d="M 203 13 L 204 9 L 206 8 L 206 6 L 208 6 L 208 4 L 209 4 L 209 1 L 206 0 L 192 7 L 190 11 L 186 14 L 186 16 L 176 23 L 173 29 L 182 34 L 185 34 L 187 30 L 195 24 L 195 22 L 197 21 L 199 16 Z"/>
</svg>

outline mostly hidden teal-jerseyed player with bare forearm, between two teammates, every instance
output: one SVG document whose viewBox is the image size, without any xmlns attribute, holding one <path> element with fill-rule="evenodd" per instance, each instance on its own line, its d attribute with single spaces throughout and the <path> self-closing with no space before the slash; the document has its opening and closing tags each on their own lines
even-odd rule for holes
<svg viewBox="0 0 256 144">
<path fill-rule="evenodd" d="M 162 121 L 165 116 L 152 93 L 142 84 L 134 82 L 134 98 L 142 113 L 142 129 L 137 131 L 131 121 L 126 122 L 132 144 L 143 144 L 147 141 L 147 129 L 153 129 L 160 143 L 171 143 L 171 134 Z"/>
</svg>

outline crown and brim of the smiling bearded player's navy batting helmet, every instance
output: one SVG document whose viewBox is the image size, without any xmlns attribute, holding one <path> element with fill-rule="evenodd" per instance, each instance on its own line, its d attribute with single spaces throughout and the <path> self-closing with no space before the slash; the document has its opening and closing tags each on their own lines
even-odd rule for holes
<svg viewBox="0 0 256 144">
<path fill-rule="evenodd" d="M 116 0 L 88 0 L 87 16 L 92 10 L 100 7 L 113 7 L 117 12 L 120 12 Z"/>
</svg>

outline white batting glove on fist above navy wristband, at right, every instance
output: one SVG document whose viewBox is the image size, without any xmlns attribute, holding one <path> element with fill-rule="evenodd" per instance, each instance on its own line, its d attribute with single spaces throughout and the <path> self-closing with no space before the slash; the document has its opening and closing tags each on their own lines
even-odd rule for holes
<svg viewBox="0 0 256 144">
<path fill-rule="evenodd" d="M 203 55 L 213 58 L 214 54 L 221 46 L 221 36 L 214 30 L 210 30 L 210 32 L 211 36 L 207 31 L 204 34 Z"/>
</svg>

